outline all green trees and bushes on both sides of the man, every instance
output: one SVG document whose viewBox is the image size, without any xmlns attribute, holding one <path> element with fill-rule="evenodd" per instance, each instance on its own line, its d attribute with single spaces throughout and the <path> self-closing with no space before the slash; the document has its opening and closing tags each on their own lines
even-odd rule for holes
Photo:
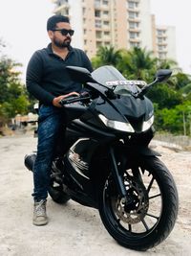
<svg viewBox="0 0 191 256">
<path fill-rule="evenodd" d="M 0 41 L 0 53 L 3 46 Z M 176 70 L 168 81 L 153 86 L 147 97 L 155 106 L 157 130 L 191 135 L 191 78 L 180 71 L 174 60 L 159 60 L 145 48 L 127 51 L 102 46 L 92 63 L 94 68 L 113 65 L 126 79 L 147 82 L 153 81 L 160 68 Z M 34 99 L 28 98 L 18 66 L 12 59 L 0 56 L 0 126 L 16 114 L 32 111 Z"/>
</svg>

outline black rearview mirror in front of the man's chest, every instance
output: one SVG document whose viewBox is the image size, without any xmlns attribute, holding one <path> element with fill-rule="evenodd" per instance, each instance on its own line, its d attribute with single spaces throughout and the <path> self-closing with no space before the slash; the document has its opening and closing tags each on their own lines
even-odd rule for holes
<svg viewBox="0 0 191 256">
<path fill-rule="evenodd" d="M 73 81 L 85 83 L 88 81 L 96 82 L 90 73 L 90 71 L 84 67 L 67 66 L 66 67 L 69 76 Z"/>
</svg>

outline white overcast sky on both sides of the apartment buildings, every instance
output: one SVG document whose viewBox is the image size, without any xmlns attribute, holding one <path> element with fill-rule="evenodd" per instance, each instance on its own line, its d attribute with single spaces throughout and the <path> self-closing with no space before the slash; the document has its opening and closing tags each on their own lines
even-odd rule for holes
<svg viewBox="0 0 191 256">
<path fill-rule="evenodd" d="M 176 27 L 177 59 L 183 71 L 191 74 L 191 1 L 150 1 L 157 24 Z M 0 38 L 7 44 L 0 51 L 23 63 L 24 76 L 32 53 L 50 41 L 46 22 L 51 15 L 51 0 L 0 0 Z"/>
</svg>

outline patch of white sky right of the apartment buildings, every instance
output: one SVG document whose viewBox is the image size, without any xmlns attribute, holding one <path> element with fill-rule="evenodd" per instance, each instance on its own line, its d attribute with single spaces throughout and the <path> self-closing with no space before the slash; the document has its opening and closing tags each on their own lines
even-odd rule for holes
<svg viewBox="0 0 191 256">
<path fill-rule="evenodd" d="M 144 1 L 144 0 L 143 0 Z M 157 25 L 176 27 L 177 60 L 184 72 L 191 74 L 191 1 L 150 0 Z"/>
</svg>

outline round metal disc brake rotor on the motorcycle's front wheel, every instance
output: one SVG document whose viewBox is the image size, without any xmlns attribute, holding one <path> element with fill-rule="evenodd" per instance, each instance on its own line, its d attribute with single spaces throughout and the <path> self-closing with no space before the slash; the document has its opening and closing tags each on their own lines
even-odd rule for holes
<svg viewBox="0 0 191 256">
<path fill-rule="evenodd" d="M 112 206 L 120 221 L 135 224 L 143 220 L 149 208 L 149 198 L 144 185 L 133 177 L 124 177 L 126 198 L 112 197 Z"/>
</svg>

